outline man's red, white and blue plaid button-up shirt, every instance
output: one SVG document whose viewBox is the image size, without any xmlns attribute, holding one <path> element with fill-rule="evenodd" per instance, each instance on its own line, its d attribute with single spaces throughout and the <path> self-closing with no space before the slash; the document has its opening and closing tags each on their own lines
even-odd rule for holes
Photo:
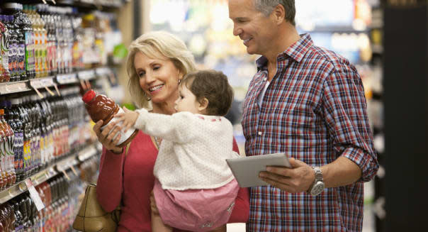
<svg viewBox="0 0 428 232">
<path fill-rule="evenodd" d="M 325 189 L 317 197 L 253 187 L 247 231 L 361 231 L 363 182 L 376 174 L 378 162 L 356 68 L 301 35 L 278 55 L 276 75 L 259 106 L 268 77 L 266 57 L 257 66 L 242 118 L 247 155 L 282 152 L 310 166 L 344 156 L 363 174 L 359 182 Z"/>
</svg>

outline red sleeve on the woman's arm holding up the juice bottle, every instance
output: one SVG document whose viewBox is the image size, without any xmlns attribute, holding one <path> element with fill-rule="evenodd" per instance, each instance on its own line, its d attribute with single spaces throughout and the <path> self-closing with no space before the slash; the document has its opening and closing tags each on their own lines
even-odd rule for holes
<svg viewBox="0 0 428 232">
<path fill-rule="evenodd" d="M 122 199 L 124 153 L 125 151 L 117 155 L 103 147 L 101 154 L 96 197 L 99 204 L 108 212 L 116 209 Z"/>
</svg>

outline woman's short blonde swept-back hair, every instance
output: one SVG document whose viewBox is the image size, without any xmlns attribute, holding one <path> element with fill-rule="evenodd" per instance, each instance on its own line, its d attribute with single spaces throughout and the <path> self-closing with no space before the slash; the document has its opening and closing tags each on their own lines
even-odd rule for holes
<svg viewBox="0 0 428 232">
<path fill-rule="evenodd" d="M 141 35 L 129 46 L 126 60 L 128 87 L 138 107 L 150 108 L 150 103 L 140 87 L 140 79 L 135 72 L 134 57 L 136 53 L 142 53 L 150 58 L 167 57 L 183 76 L 188 72 L 196 71 L 192 53 L 187 49 L 186 44 L 175 35 L 165 31 L 152 31 Z"/>
</svg>

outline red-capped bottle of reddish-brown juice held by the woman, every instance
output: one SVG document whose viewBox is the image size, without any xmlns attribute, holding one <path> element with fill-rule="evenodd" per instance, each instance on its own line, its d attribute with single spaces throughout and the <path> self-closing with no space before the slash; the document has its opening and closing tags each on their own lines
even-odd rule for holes
<svg viewBox="0 0 428 232">
<path fill-rule="evenodd" d="M 115 114 L 123 113 L 121 109 L 113 99 L 108 98 L 103 94 L 96 94 L 94 90 L 89 90 L 83 96 L 86 110 L 92 121 L 97 122 L 103 120 L 101 130 L 111 121 L 116 121 L 114 118 Z M 125 145 L 130 143 L 131 140 L 137 135 L 138 130 L 128 130 L 125 133 L 120 131 L 120 140 L 118 147 L 123 148 Z"/>
</svg>

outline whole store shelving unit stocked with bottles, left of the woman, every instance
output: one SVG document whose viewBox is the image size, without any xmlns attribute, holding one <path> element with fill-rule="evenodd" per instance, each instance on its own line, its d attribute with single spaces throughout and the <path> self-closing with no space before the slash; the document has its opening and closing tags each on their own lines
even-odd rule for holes
<svg viewBox="0 0 428 232">
<path fill-rule="evenodd" d="M 27 7 L 30 6 L 31 10 L 29 11 L 34 13 L 26 13 L 26 17 L 28 20 L 31 19 L 31 26 L 34 28 L 34 22 L 42 19 L 47 37 L 50 35 L 55 36 L 50 40 L 53 45 L 52 43 L 48 45 L 45 42 L 42 45 L 46 47 L 40 47 L 40 49 L 46 49 L 46 60 L 41 60 L 40 62 L 48 64 L 48 62 L 53 62 L 52 60 L 56 59 L 55 62 L 57 62 L 57 67 L 59 68 L 58 70 L 52 70 L 54 72 L 50 72 L 50 67 L 54 69 L 57 67 L 55 65 L 50 67 L 47 67 L 48 65 L 39 66 L 47 67 L 47 69 L 43 72 L 36 72 L 36 75 L 44 75 L 49 72 L 55 73 L 56 71 L 67 73 L 20 82 L 0 83 L 1 104 L 3 104 L 5 111 L 7 109 L 6 112 L 9 112 L 9 114 L 19 114 L 19 120 L 21 122 L 26 121 L 26 126 L 32 125 L 30 129 L 35 131 L 34 133 L 33 131 L 31 133 L 24 131 L 27 128 L 23 126 L 21 136 L 22 139 L 24 139 L 23 135 L 27 136 L 26 140 L 24 140 L 27 147 L 16 148 L 13 145 L 12 150 L 15 155 L 18 154 L 19 159 L 17 161 L 18 169 L 16 169 L 16 174 L 32 173 L 33 175 L 21 179 L 19 182 L 0 191 L 0 211 L 11 207 L 19 201 L 19 211 L 21 211 L 22 216 L 25 216 L 25 219 L 24 217 L 21 218 L 21 221 L 16 219 L 15 226 L 26 226 L 25 230 L 35 229 L 39 231 L 40 228 L 43 228 L 48 231 L 73 231 L 71 223 L 77 214 L 84 188 L 88 182 L 96 182 L 99 165 L 98 155 L 101 154 L 102 150 L 102 145 L 94 142 L 96 141 L 96 136 L 91 130 L 91 125 L 93 124 L 91 124 L 89 116 L 84 113 L 83 102 L 79 99 L 81 99 L 80 95 L 89 88 L 97 89 L 98 92 L 103 93 L 104 88 L 108 87 L 108 81 L 115 79 L 117 82 L 116 70 L 120 67 L 120 64 L 113 63 L 112 60 L 116 62 L 121 60 L 120 56 L 115 55 L 112 50 L 116 45 L 120 45 L 120 48 L 125 46 L 121 44 L 125 43 L 122 36 L 126 38 L 127 34 L 120 32 L 117 24 L 118 15 L 120 15 L 118 10 L 125 6 L 127 1 L 55 0 L 54 2 L 52 0 L 4 0 L 1 1 L 0 8 L 4 6 L 4 3 L 9 2 L 28 5 L 25 9 L 29 9 Z M 53 7 L 43 5 L 43 3 Z M 7 7 L 4 6 L 5 9 Z M 13 13 L 13 11 L 3 10 L 1 9 L 0 14 Z M 30 16 L 33 18 L 30 18 Z M 60 18 L 62 23 L 57 24 L 58 21 L 52 23 L 54 21 L 52 18 L 54 17 Z M 114 40 L 108 40 L 111 38 L 110 36 L 113 36 Z M 33 42 L 30 42 L 29 45 L 31 43 Z M 25 45 L 26 49 L 32 48 L 27 47 L 27 44 Z M 50 54 L 55 54 L 47 53 L 49 51 L 48 48 L 52 48 L 49 46 L 54 45 L 57 48 L 55 53 L 59 51 L 61 55 L 58 57 L 51 55 L 50 58 L 52 60 L 48 60 Z M 89 58 L 85 60 L 86 57 Z M 70 72 L 71 70 L 74 72 Z M 26 71 L 28 72 L 28 69 Z M 30 74 L 34 71 L 30 70 Z M 40 99 L 35 96 L 35 93 L 38 94 Z M 12 102 L 14 102 L 13 104 L 18 102 L 19 113 L 13 113 L 12 109 L 7 108 L 11 107 L 10 104 Z M 43 113 L 38 114 L 35 113 L 36 111 Z M 47 120 L 49 120 L 49 128 L 47 127 Z M 33 123 L 33 121 L 36 121 L 36 123 Z M 39 122 L 40 124 L 38 124 Z M 8 121 L 8 123 L 13 125 L 13 121 Z M 13 127 L 14 132 L 15 129 L 19 130 L 19 128 Z M 49 131 L 50 142 L 47 142 L 47 133 L 39 132 L 39 130 Z M 40 136 L 35 138 L 34 135 Z M 65 136 L 69 137 L 66 138 Z M 55 141 L 53 143 L 52 137 Z M 14 139 L 18 140 L 18 137 Z M 49 145 L 48 149 L 53 151 L 46 152 L 42 150 L 43 144 Z M 47 145 L 45 145 L 45 148 L 47 148 Z M 22 152 L 21 149 L 24 151 Z M 29 152 L 29 150 L 31 151 Z M 22 153 L 24 154 L 22 155 Z M 52 163 L 52 160 L 55 161 Z M 40 163 L 46 164 L 46 162 L 49 163 L 48 166 L 42 165 L 41 167 L 45 167 L 43 170 L 34 172 L 35 167 L 40 167 Z M 11 164 L 11 166 L 16 165 L 16 162 Z M 11 166 L 8 167 L 10 169 L 7 171 L 2 169 L 2 172 L 6 173 L 2 175 L 6 175 L 9 178 L 13 172 Z M 36 193 L 32 191 L 30 185 L 35 187 Z M 42 199 L 43 204 L 45 204 L 44 209 L 40 208 L 40 206 L 38 206 L 38 209 L 33 209 L 33 206 L 37 205 L 35 203 L 38 198 Z M 32 207 L 31 211 L 38 211 L 38 214 L 22 211 L 22 201 L 26 201 L 25 207 Z M 13 211 L 9 210 L 8 212 L 10 214 Z M 9 214 L 8 216 L 11 216 Z M 2 220 L 3 218 L 0 222 L 5 225 Z M 9 229 L 6 230 L 9 231 Z"/>
</svg>

